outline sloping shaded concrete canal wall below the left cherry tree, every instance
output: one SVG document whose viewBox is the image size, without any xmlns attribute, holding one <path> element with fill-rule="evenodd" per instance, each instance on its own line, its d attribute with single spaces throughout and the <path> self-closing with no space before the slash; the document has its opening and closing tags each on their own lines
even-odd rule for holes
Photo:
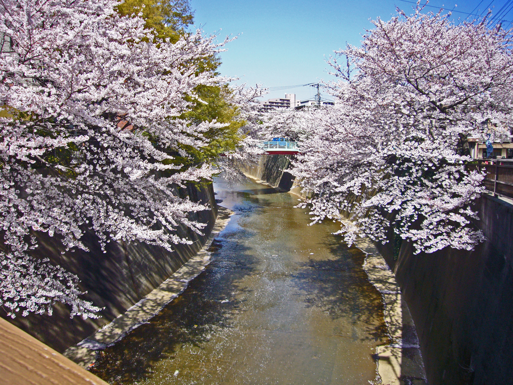
<svg viewBox="0 0 513 385">
<path fill-rule="evenodd" d="M 195 234 L 183 225 L 177 229 L 177 235 L 193 243 L 177 244 L 173 252 L 145 243 L 111 242 L 107 244 L 104 254 L 98 238 L 92 231 L 86 231 L 83 240 L 89 252 L 77 250 L 61 254 L 63 246 L 58 239 L 47 234 L 37 235 L 40 247 L 34 251 L 34 257 L 49 258 L 52 263 L 60 264 L 76 274 L 81 280 L 80 288 L 87 291 L 84 298 L 105 307 L 100 312 L 101 318 L 70 319 L 68 307 L 62 304 L 54 305 L 52 316 L 32 314 L 11 319 L 2 310 L 0 316 L 56 351 L 63 352 L 123 314 L 194 256 L 208 239 L 217 215 L 212 183 L 202 186 L 190 184 L 180 189 L 179 194 L 213 208 L 191 215 L 191 219 L 207 223 L 203 229 L 204 236 Z"/>
</svg>

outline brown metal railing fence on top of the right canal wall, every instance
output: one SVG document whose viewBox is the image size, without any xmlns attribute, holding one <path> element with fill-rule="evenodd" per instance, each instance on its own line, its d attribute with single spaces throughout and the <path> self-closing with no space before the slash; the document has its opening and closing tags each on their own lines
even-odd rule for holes
<svg viewBox="0 0 513 385">
<path fill-rule="evenodd" d="M 488 191 L 513 199 L 513 159 L 479 159 L 477 167 L 485 172 Z"/>
</svg>

